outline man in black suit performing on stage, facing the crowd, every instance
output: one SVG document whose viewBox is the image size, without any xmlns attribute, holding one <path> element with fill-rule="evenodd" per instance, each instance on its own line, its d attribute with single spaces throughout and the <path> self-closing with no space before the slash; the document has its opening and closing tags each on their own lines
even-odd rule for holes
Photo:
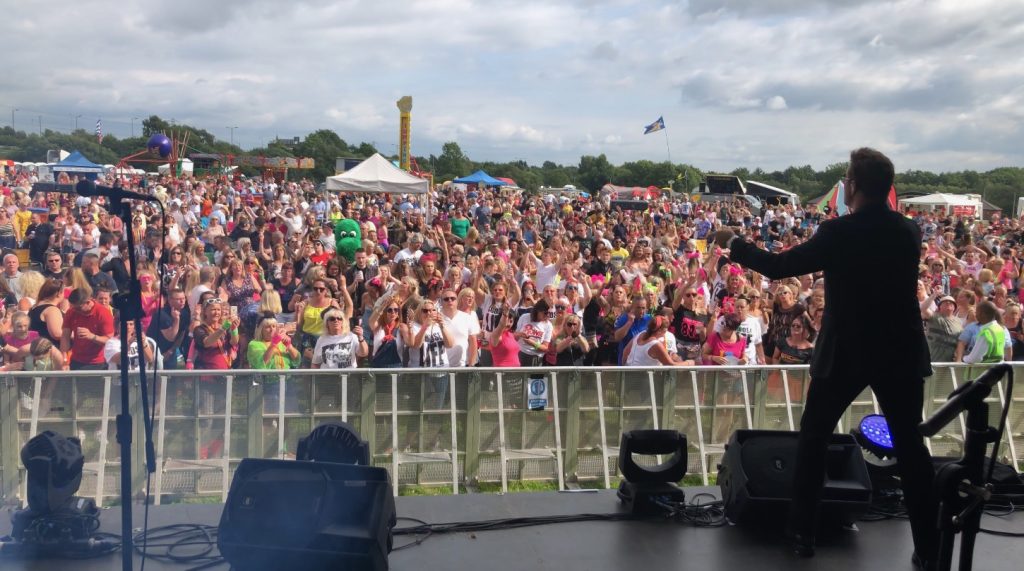
<svg viewBox="0 0 1024 571">
<path fill-rule="evenodd" d="M 771 278 L 823 270 L 825 309 L 811 359 L 811 386 L 800 422 L 790 533 L 799 555 L 814 555 L 825 449 L 840 416 L 867 386 L 889 422 L 913 532 L 913 563 L 935 560 L 935 477 L 918 433 L 924 378 L 932 374 L 918 306 L 921 232 L 886 204 L 895 178 L 878 150 L 850 153 L 845 201 L 852 214 L 821 224 L 806 243 L 769 254 L 722 229 L 715 240 L 733 262 Z"/>
</svg>

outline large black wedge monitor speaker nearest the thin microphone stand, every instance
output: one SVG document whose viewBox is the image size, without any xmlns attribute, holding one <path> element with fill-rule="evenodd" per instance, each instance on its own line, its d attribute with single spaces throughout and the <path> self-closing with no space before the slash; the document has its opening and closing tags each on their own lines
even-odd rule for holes
<svg viewBox="0 0 1024 571">
<path fill-rule="evenodd" d="M 234 569 L 388 568 L 394 496 L 383 468 L 245 458 L 217 545 Z"/>
</svg>

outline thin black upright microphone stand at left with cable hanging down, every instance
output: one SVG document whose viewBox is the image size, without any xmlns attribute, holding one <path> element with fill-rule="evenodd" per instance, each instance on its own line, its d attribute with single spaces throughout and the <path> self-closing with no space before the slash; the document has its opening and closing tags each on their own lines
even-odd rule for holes
<svg viewBox="0 0 1024 571">
<path fill-rule="evenodd" d="M 142 425 L 145 440 L 145 469 L 153 474 L 157 471 L 157 452 L 153 445 L 153 421 L 150 418 L 150 398 L 145 385 L 145 332 L 142 330 L 142 290 L 138 282 L 138 261 L 135 256 L 135 236 L 132 231 L 131 203 L 121 197 L 108 196 L 106 210 L 112 216 L 118 216 L 124 221 L 128 234 L 128 267 L 131 279 L 127 292 L 119 292 L 114 296 L 114 307 L 121 317 L 121 413 L 117 418 L 118 444 L 121 445 L 121 569 L 132 570 L 133 538 L 132 538 L 132 418 L 129 406 L 130 391 L 128 389 L 129 365 L 128 358 L 128 320 L 135 321 L 135 344 L 138 347 L 138 374 L 142 399 Z M 124 256 L 124 254 L 122 254 Z M 145 501 L 148 501 L 145 498 Z"/>
</svg>

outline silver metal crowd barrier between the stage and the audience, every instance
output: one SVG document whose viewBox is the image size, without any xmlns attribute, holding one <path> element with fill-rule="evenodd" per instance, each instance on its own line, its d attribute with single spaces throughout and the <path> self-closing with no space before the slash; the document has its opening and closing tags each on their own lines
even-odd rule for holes
<svg viewBox="0 0 1024 571">
<path fill-rule="evenodd" d="M 925 415 L 980 372 L 935 364 L 927 380 Z M 1016 372 L 1024 369 L 1015 367 Z M 82 440 L 86 456 L 80 493 L 104 499 L 120 493 L 114 419 L 119 380 L 110 372 L 12 372 L 0 377 L 0 503 L 25 497 L 22 445 L 43 430 Z M 527 407 L 531 380 L 544 379 L 549 402 Z M 736 429 L 795 430 L 808 384 L 806 366 L 392 368 L 338 370 L 161 371 L 156 387 L 155 500 L 226 496 L 243 457 L 294 457 L 314 426 L 351 424 L 371 443 L 374 463 L 392 480 L 446 485 L 453 493 L 480 482 L 581 481 L 605 487 L 616 478 L 618 437 L 629 430 L 676 429 L 690 443 L 690 474 L 715 474 L 724 443 Z M 133 492 L 143 490 L 142 409 L 132 383 Z M 1024 395 L 1015 396 L 1000 455 L 1020 467 Z M 1006 398 L 991 397 L 992 422 Z M 846 432 L 879 411 L 870 391 L 853 402 L 837 427 Z M 963 419 L 928 441 L 938 455 L 964 442 Z"/>
</svg>

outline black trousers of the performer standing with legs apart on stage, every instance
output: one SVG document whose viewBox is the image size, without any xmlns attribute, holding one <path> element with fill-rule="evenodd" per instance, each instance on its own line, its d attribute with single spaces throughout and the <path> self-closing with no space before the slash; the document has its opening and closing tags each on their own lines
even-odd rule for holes
<svg viewBox="0 0 1024 571">
<path fill-rule="evenodd" d="M 922 558 L 934 561 L 938 548 L 937 513 L 932 499 L 935 468 L 925 439 L 918 432 L 925 399 L 923 379 L 850 375 L 811 381 L 800 420 L 790 528 L 814 537 L 829 436 L 843 412 L 867 386 L 874 391 L 892 433 L 914 550 Z"/>
</svg>

